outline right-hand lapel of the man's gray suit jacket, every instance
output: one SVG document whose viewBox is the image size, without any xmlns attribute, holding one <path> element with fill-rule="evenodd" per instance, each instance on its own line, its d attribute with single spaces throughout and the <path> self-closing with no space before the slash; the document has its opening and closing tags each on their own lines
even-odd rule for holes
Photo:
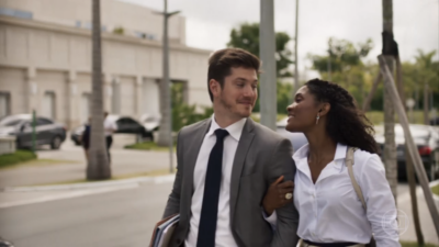
<svg viewBox="0 0 439 247">
<path fill-rule="evenodd" d="M 246 125 L 244 125 L 243 134 L 239 138 L 238 148 L 236 149 L 235 159 L 232 168 L 232 181 L 230 181 L 230 220 L 233 221 L 235 215 L 235 206 L 238 199 L 240 175 L 243 172 L 244 162 L 246 160 L 248 148 L 254 141 L 255 134 L 252 130 L 255 122 L 248 117 Z M 230 221 L 230 222 L 232 222 Z"/>
</svg>

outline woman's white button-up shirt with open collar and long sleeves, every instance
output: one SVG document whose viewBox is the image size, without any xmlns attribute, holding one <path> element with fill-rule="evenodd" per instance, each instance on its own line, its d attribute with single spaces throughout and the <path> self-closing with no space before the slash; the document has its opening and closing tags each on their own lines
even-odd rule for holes
<svg viewBox="0 0 439 247">
<path fill-rule="evenodd" d="M 314 243 L 351 242 L 367 244 L 372 232 L 378 247 L 401 246 L 395 200 L 378 155 L 357 150 L 353 175 L 363 193 L 364 211 L 345 165 L 347 146 L 338 144 L 334 160 L 314 184 L 307 162 L 308 145 L 293 159 L 297 167 L 294 179 L 294 204 L 300 214 L 297 235 Z M 267 218 L 275 225 L 273 213 Z"/>
</svg>

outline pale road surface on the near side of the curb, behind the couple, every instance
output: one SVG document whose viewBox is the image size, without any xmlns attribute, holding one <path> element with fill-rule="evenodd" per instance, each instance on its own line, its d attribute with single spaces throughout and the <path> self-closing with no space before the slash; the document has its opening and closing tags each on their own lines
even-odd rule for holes
<svg viewBox="0 0 439 247">
<path fill-rule="evenodd" d="M 160 218 L 171 182 L 145 183 L 115 191 L 71 199 L 0 209 L 1 236 L 18 247 L 147 246 L 154 224 Z M 401 184 L 399 191 L 407 189 Z M 54 192 L 52 192 L 54 193 Z M 75 192 L 56 192 L 56 194 Z M 407 197 L 399 210 L 410 216 Z M 426 242 L 439 244 L 431 217 L 418 193 Z M 413 224 L 402 236 L 415 240 Z"/>
</svg>

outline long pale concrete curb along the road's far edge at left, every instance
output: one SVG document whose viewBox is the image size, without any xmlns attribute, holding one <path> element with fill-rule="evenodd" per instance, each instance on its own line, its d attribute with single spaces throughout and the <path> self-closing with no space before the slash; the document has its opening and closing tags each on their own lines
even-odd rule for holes
<svg viewBox="0 0 439 247">
<path fill-rule="evenodd" d="M 92 188 L 105 188 L 114 186 L 125 186 L 133 183 L 165 183 L 172 182 L 176 175 L 166 175 L 157 177 L 138 177 L 130 179 L 121 179 L 114 181 L 101 181 L 101 182 L 83 182 L 75 184 L 59 184 L 59 186 L 40 186 L 40 187 L 7 187 L 3 188 L 2 192 L 35 192 L 35 191 L 63 191 L 63 190 L 81 190 L 81 189 L 92 189 Z"/>
</svg>

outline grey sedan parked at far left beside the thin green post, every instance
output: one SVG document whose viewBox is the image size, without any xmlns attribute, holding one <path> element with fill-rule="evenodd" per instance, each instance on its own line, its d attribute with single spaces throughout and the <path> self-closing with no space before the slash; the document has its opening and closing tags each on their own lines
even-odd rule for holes
<svg viewBox="0 0 439 247">
<path fill-rule="evenodd" d="M 50 145 L 52 149 L 59 149 L 66 139 L 66 126 L 43 116 L 35 119 L 36 145 Z M 0 120 L 0 136 L 15 136 L 18 148 L 32 147 L 32 115 L 8 115 Z"/>
</svg>

